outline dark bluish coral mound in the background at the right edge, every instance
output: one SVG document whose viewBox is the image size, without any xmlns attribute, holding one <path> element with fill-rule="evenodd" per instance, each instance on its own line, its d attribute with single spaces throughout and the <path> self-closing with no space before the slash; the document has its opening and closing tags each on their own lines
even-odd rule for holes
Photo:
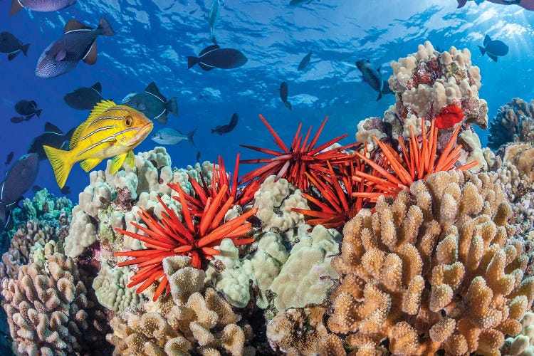
<svg viewBox="0 0 534 356">
<path fill-rule="evenodd" d="M 489 131 L 488 147 L 493 150 L 508 142 L 534 142 L 534 100 L 513 98 L 498 108 Z"/>
</svg>

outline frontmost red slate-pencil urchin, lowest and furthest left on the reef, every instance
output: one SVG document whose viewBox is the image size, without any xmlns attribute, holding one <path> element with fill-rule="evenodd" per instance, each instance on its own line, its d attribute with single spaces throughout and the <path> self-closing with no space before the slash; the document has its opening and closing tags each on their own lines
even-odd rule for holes
<svg viewBox="0 0 534 356">
<path fill-rule="evenodd" d="M 251 229 L 251 223 L 246 222 L 257 209 L 251 209 L 246 213 L 237 216 L 231 221 L 221 224 L 226 211 L 230 208 L 234 199 L 230 197 L 224 201 L 224 195 L 228 191 L 228 186 L 221 187 L 219 193 L 213 199 L 207 199 L 204 211 L 198 223 L 194 222 L 194 217 L 187 205 L 184 191 L 176 184 L 173 186 L 179 194 L 179 201 L 182 204 L 181 215 L 178 216 L 172 209 L 157 196 L 160 204 L 165 209 L 162 220 L 150 216 L 141 209 L 140 216 L 145 226 L 132 223 L 137 229 L 145 234 L 137 234 L 123 229 L 116 229 L 117 232 L 130 236 L 133 239 L 142 241 L 147 249 L 115 252 L 115 256 L 133 257 L 131 260 L 118 263 L 117 266 L 137 265 L 139 271 L 132 276 L 132 282 L 128 288 L 137 286 L 137 293 L 151 286 L 156 281 L 159 285 L 154 294 L 154 300 L 167 288 L 169 290 L 167 276 L 164 275 L 162 261 L 165 257 L 184 255 L 192 256 L 194 268 L 201 267 L 202 259 L 211 259 L 213 255 L 218 255 L 220 251 L 214 246 L 218 246 L 222 239 L 231 239 L 235 245 L 250 244 L 254 239 L 242 237 Z M 182 220 L 184 221 L 182 223 Z"/>
</svg>

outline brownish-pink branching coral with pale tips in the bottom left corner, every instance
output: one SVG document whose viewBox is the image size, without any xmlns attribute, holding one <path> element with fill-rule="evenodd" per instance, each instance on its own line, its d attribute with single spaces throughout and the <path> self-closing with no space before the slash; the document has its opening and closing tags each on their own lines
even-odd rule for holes
<svg viewBox="0 0 534 356">
<path fill-rule="evenodd" d="M 88 300 L 73 259 L 54 254 L 46 263 L 21 266 L 2 281 L 4 309 L 20 355 L 98 352 L 107 332 L 105 315 Z"/>
</svg>

